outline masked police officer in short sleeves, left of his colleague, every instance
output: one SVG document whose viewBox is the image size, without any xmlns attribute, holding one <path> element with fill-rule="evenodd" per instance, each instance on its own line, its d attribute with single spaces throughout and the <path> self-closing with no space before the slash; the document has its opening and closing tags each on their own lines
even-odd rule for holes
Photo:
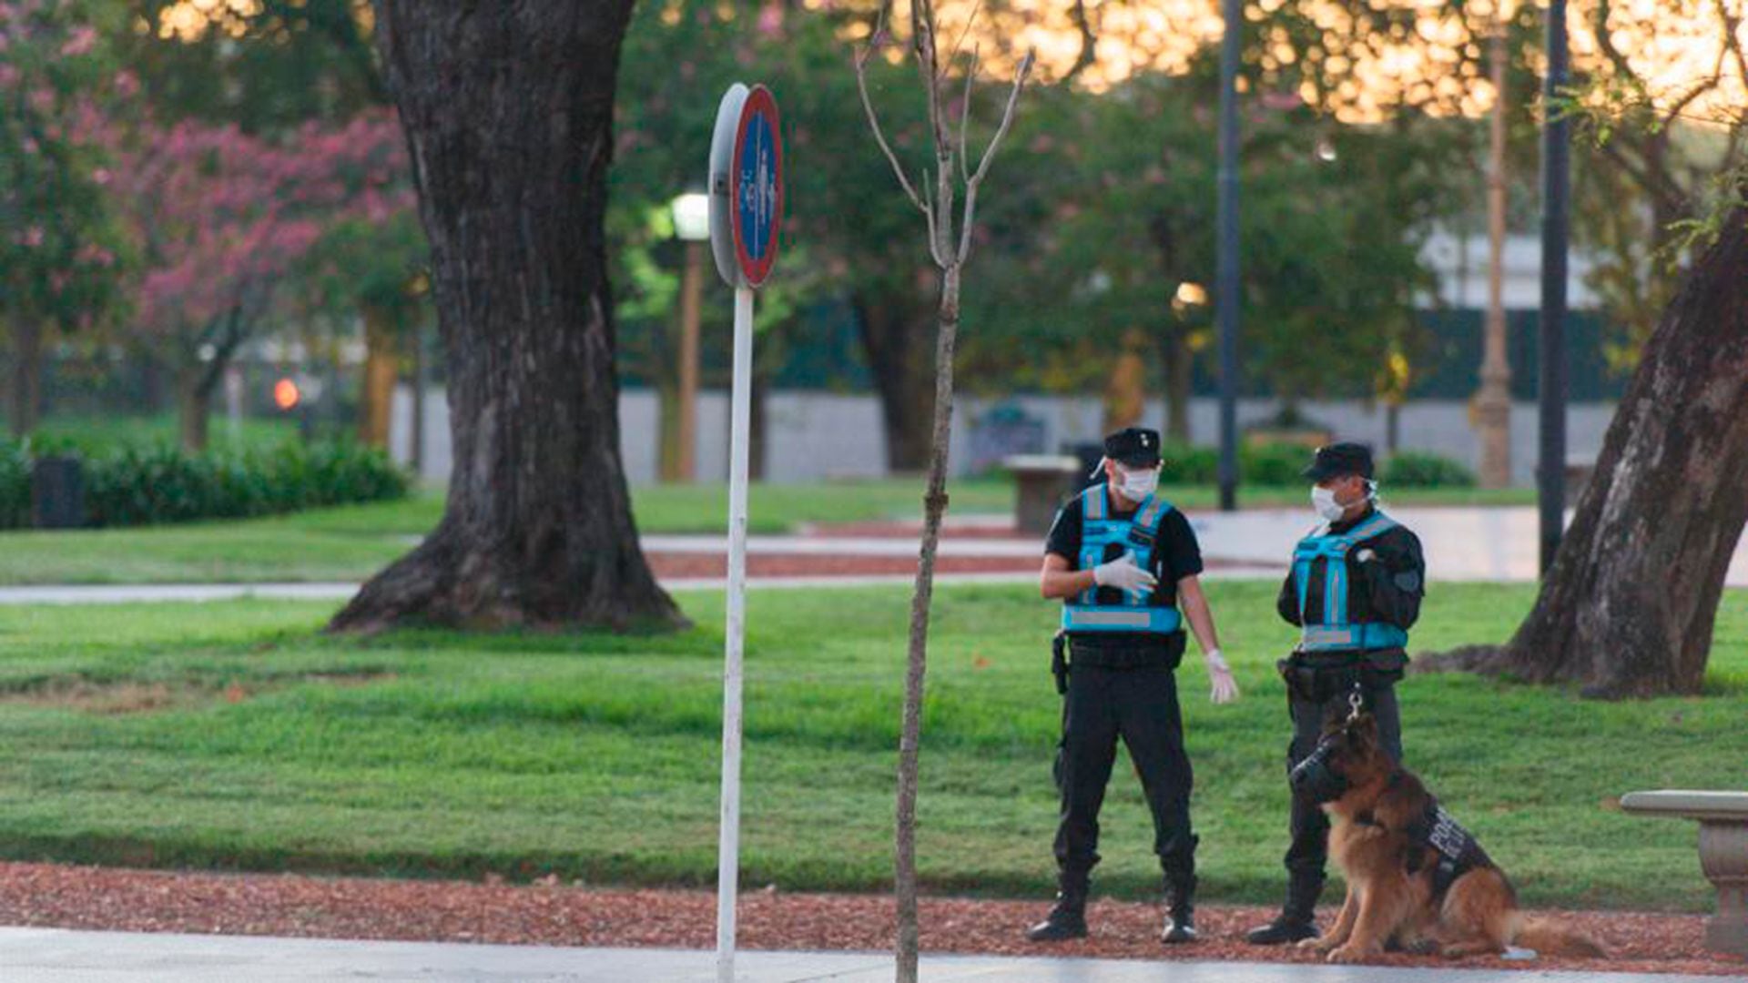
<svg viewBox="0 0 1748 983">
<path fill-rule="evenodd" d="M 1058 512 L 1040 577 L 1044 596 L 1063 602 L 1054 665 L 1065 693 L 1056 757 L 1063 805 L 1056 831 L 1059 894 L 1028 938 L 1087 934 L 1087 889 L 1099 861 L 1098 813 L 1120 736 L 1154 813 L 1168 910 L 1161 939 L 1187 943 L 1196 938 L 1197 838 L 1190 831 L 1192 773 L 1173 675 L 1183 658 L 1185 621 L 1201 644 L 1211 700 L 1238 698 L 1238 684 L 1220 658 L 1197 579 L 1203 560 L 1196 533 L 1182 512 L 1154 495 L 1159 432 L 1131 427 L 1105 437 L 1101 467 L 1105 481 Z"/>
</svg>

